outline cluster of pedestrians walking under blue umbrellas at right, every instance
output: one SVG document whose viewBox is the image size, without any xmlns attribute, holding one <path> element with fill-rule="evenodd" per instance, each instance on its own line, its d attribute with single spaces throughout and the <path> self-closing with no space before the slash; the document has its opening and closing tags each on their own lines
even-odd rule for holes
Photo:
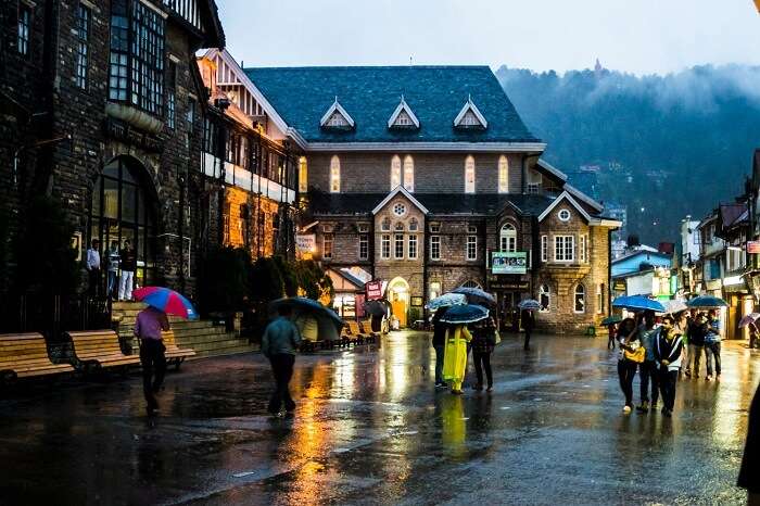
<svg viewBox="0 0 760 506">
<path fill-rule="evenodd" d="M 633 380 L 639 374 L 639 413 L 655 410 L 662 397 L 662 415 L 670 417 L 675 404 L 679 375 L 699 378 L 700 358 L 706 355 L 706 380 L 721 375 L 720 320 L 714 309 L 706 313 L 685 311 L 666 315 L 660 324 L 646 311 L 610 327 L 610 343 L 617 341 L 620 356 L 618 377 L 625 396 L 623 413 L 633 410 Z"/>
</svg>

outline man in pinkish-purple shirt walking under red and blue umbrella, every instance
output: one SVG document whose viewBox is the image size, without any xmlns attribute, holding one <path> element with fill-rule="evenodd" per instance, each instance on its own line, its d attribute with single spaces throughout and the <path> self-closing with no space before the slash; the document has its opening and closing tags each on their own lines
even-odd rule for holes
<svg viewBox="0 0 760 506">
<path fill-rule="evenodd" d="M 154 416 L 159 410 L 155 394 L 164 384 L 166 375 L 166 347 L 162 331 L 169 330 L 166 313 L 148 306 L 137 315 L 135 336 L 140 340 L 140 364 L 142 365 L 142 393 L 148 403 L 148 415 Z"/>
</svg>

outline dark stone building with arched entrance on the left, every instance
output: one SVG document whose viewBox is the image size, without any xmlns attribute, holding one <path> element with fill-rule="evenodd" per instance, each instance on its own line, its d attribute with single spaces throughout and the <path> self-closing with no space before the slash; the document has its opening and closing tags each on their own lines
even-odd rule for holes
<svg viewBox="0 0 760 506">
<path fill-rule="evenodd" d="M 224 47 L 214 1 L 11 0 L 0 16 L 1 205 L 23 213 L 52 194 L 80 255 L 91 239 L 128 239 L 138 284 L 191 293 L 206 102 L 195 52 Z"/>
</svg>

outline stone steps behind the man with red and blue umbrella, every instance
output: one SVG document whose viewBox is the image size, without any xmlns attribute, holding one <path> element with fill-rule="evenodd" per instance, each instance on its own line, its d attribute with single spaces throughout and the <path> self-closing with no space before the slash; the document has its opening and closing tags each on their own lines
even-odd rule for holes
<svg viewBox="0 0 760 506">
<path fill-rule="evenodd" d="M 114 328 L 123 342 L 131 344 L 132 353 L 137 353 L 139 344 L 135 338 L 135 318 L 145 307 L 141 302 L 114 302 L 112 320 Z M 249 353 L 257 349 L 248 339 L 240 338 L 236 332 L 228 332 L 224 325 L 214 325 L 211 320 L 185 320 L 169 316 L 169 322 L 179 347 L 195 350 L 195 358 L 236 353 Z"/>
</svg>

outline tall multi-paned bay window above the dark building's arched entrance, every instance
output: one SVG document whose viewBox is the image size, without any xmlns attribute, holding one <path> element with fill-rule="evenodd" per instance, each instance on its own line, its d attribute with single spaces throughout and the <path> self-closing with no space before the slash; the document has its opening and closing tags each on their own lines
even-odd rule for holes
<svg viewBox="0 0 760 506">
<path fill-rule="evenodd" d="M 164 18 L 139 1 L 111 4 L 109 98 L 151 114 L 164 105 Z"/>
</svg>

